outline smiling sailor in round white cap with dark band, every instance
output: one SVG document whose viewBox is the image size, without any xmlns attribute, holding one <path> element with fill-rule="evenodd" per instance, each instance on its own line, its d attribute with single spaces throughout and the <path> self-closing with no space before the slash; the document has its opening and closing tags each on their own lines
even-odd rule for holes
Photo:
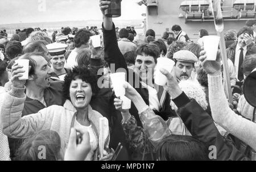
<svg viewBox="0 0 256 172">
<path fill-rule="evenodd" d="M 49 54 L 52 56 L 51 64 L 52 73 L 51 78 L 53 80 L 64 81 L 65 76 L 71 72 L 70 69 L 65 69 L 65 52 L 68 45 L 62 43 L 53 43 L 46 45 Z"/>
</svg>

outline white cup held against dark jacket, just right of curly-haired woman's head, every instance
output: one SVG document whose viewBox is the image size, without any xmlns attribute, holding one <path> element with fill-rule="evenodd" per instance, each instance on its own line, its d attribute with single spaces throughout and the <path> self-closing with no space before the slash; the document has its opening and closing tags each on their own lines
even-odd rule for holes
<svg viewBox="0 0 256 172">
<path fill-rule="evenodd" d="M 123 85 L 125 84 L 125 73 L 124 72 L 113 73 L 113 74 L 110 74 L 110 78 L 115 91 L 115 95 L 117 97 L 121 97 L 125 95 L 125 88 L 123 87 Z"/>
</svg>

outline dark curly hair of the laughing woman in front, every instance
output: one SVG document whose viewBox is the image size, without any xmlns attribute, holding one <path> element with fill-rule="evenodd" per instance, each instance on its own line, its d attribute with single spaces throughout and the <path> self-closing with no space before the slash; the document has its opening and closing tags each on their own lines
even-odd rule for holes
<svg viewBox="0 0 256 172">
<path fill-rule="evenodd" d="M 69 96 L 69 88 L 71 82 L 76 79 L 82 79 L 82 81 L 90 83 L 92 87 L 93 97 L 97 95 L 99 87 L 97 85 L 97 75 L 96 72 L 92 68 L 87 67 L 75 67 L 72 72 L 67 74 L 65 77 L 64 85 L 63 85 L 63 94 L 65 100 L 70 100 Z"/>
</svg>

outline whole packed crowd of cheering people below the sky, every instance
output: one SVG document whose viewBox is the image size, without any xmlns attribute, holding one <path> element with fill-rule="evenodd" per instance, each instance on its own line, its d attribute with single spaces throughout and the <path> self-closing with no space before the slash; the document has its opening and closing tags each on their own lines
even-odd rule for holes
<svg viewBox="0 0 256 172">
<path fill-rule="evenodd" d="M 228 102 L 221 54 L 208 61 L 204 51 L 207 30 L 195 43 L 176 24 L 161 39 L 149 29 L 134 41 L 134 27 L 119 30 L 104 15 L 109 5 L 100 0 L 100 32 L 65 27 L 50 38 L 27 28 L 10 40 L 1 32 L 0 160 L 256 160 L 255 107 L 242 89 L 256 69 L 256 20 L 225 33 Z M 93 47 L 93 35 L 101 35 L 101 47 Z M 160 69 L 164 86 L 154 82 L 160 57 L 175 62 L 171 73 Z M 26 81 L 16 60 L 29 60 Z M 129 110 L 112 88 L 119 69 Z"/>
</svg>

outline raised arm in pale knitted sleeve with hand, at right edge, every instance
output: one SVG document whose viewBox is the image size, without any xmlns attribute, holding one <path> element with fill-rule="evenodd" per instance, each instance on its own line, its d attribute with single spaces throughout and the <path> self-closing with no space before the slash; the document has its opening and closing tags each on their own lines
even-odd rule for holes
<svg viewBox="0 0 256 172">
<path fill-rule="evenodd" d="M 220 54 L 218 53 L 217 61 L 205 60 L 204 51 L 201 55 L 203 68 L 208 72 L 209 100 L 213 120 L 256 150 L 256 124 L 242 118 L 229 108 L 221 81 Z"/>
</svg>

